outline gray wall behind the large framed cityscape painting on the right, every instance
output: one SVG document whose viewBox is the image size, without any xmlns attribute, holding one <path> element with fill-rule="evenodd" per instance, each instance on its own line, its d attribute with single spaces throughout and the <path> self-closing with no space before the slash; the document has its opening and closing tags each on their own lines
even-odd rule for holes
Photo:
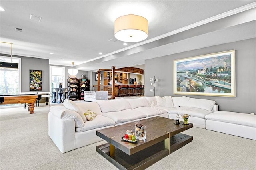
<svg viewBox="0 0 256 170">
<path fill-rule="evenodd" d="M 173 61 L 187 57 L 236 50 L 236 97 L 193 96 L 188 97 L 215 100 L 219 110 L 241 113 L 256 113 L 256 38 L 225 43 L 212 47 L 186 51 L 145 61 L 145 95 L 153 96 L 150 78 L 159 79 L 155 94 L 160 97 L 174 95 Z"/>
</svg>

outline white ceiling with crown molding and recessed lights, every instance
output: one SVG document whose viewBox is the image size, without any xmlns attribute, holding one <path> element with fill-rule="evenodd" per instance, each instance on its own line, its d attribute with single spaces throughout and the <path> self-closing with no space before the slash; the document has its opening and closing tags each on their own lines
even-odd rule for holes
<svg viewBox="0 0 256 170">
<path fill-rule="evenodd" d="M 143 68 L 145 59 L 256 37 L 255 0 L 1 0 L 0 6 L 0 41 L 13 43 L 13 55 L 54 65 L 74 61 L 85 71 Z M 148 19 L 149 35 L 124 46 L 114 38 L 114 20 L 131 13 Z M 193 35 L 179 34 L 186 30 Z M 0 53 L 10 54 L 10 46 L 0 43 Z"/>
</svg>

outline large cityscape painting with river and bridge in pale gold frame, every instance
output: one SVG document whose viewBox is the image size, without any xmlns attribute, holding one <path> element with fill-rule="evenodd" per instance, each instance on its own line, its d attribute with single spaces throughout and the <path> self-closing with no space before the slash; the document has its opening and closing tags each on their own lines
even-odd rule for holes
<svg viewBox="0 0 256 170">
<path fill-rule="evenodd" d="M 236 97 L 236 50 L 174 60 L 174 94 Z"/>
</svg>

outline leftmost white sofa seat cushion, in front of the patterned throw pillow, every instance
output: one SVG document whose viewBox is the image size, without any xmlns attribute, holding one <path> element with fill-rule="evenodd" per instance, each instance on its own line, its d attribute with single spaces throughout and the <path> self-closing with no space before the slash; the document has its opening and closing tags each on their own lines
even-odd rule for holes
<svg viewBox="0 0 256 170">
<path fill-rule="evenodd" d="M 115 121 L 113 121 L 112 119 L 108 117 L 104 117 L 102 115 L 98 115 L 92 121 L 85 122 L 83 127 L 77 127 L 76 131 L 84 132 L 87 130 L 92 130 L 95 128 L 106 127 L 106 126 L 115 125 L 115 124 L 116 124 Z"/>
</svg>

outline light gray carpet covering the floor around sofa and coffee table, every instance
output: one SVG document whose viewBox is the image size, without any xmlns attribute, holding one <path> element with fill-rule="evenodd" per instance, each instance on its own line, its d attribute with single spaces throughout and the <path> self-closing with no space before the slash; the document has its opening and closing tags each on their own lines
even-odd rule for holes
<svg viewBox="0 0 256 170">
<path fill-rule="evenodd" d="M 34 114 L 26 109 L 0 109 L 0 169 L 117 169 L 91 144 L 62 154 L 48 136 L 49 106 Z M 157 127 L 156 127 L 157 128 Z M 256 141 L 201 128 L 184 132 L 194 140 L 148 170 L 255 169 Z"/>
</svg>

